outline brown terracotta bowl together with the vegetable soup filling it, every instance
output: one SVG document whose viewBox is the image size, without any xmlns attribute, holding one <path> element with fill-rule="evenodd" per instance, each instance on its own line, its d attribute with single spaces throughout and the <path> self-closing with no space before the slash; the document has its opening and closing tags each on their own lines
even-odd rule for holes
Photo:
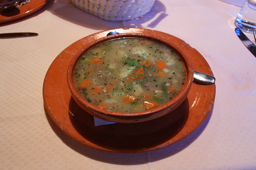
<svg viewBox="0 0 256 170">
<path fill-rule="evenodd" d="M 182 45 L 140 33 L 90 42 L 67 70 L 76 103 L 93 116 L 120 123 L 171 113 L 186 99 L 192 81 L 192 63 Z"/>
</svg>

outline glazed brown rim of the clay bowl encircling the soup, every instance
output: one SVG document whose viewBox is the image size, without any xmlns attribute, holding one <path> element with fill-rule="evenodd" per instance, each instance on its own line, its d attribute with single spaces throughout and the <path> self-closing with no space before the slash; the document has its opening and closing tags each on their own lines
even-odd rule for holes
<svg viewBox="0 0 256 170">
<path fill-rule="evenodd" d="M 186 69 L 187 69 L 187 79 L 184 82 L 183 88 L 180 90 L 180 92 L 177 96 L 175 96 L 169 102 L 167 102 L 163 105 L 160 105 L 156 108 L 151 108 L 151 109 L 146 110 L 146 111 L 129 113 L 129 112 L 108 111 L 108 110 L 105 110 L 105 109 L 98 108 L 98 107 L 96 107 L 96 105 L 93 105 L 93 104 L 87 102 L 76 91 L 76 89 L 73 85 L 72 73 L 73 73 L 74 65 L 75 65 L 76 61 L 79 59 L 79 57 L 81 56 L 81 54 L 83 54 L 84 51 L 86 51 L 88 48 L 90 48 L 93 45 L 96 45 L 99 42 L 104 42 L 104 41 L 123 38 L 123 37 L 151 38 L 151 39 L 158 40 L 160 42 L 166 43 L 167 45 L 171 46 L 172 48 L 175 48 L 175 50 L 178 53 L 180 53 L 181 57 L 183 58 L 183 62 L 186 66 Z M 105 115 L 112 115 L 112 116 L 142 116 L 142 115 L 146 115 L 146 114 L 157 113 L 157 112 L 162 111 L 166 108 L 169 108 L 170 106 L 175 105 L 177 102 L 182 100 L 183 97 L 188 94 L 189 89 L 192 86 L 193 77 L 194 77 L 194 70 L 193 70 L 192 62 L 191 62 L 189 56 L 186 54 L 186 51 L 183 51 L 182 47 L 180 48 L 179 43 L 176 44 L 175 41 L 172 41 L 172 40 L 169 40 L 169 41 L 167 40 L 166 41 L 166 39 L 164 39 L 163 37 L 156 37 L 154 35 L 143 34 L 143 33 L 120 33 L 120 34 L 109 35 L 109 36 L 102 37 L 102 38 L 99 38 L 97 40 L 94 40 L 94 41 L 90 42 L 89 44 L 85 45 L 84 48 L 81 48 L 81 50 L 79 50 L 75 54 L 75 56 L 70 61 L 70 64 L 68 65 L 68 68 L 67 68 L 67 84 L 68 84 L 68 87 L 70 89 L 70 92 L 71 92 L 73 98 L 75 98 L 75 101 L 79 102 L 81 105 L 85 106 L 86 108 L 92 109 L 93 111 L 97 111 L 99 113 L 103 113 Z"/>
</svg>

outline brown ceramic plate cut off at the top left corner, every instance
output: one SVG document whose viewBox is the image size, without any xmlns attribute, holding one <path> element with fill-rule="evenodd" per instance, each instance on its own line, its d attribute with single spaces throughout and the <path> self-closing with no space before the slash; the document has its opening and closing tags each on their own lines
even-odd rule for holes
<svg viewBox="0 0 256 170">
<path fill-rule="evenodd" d="M 50 0 L 31 0 L 19 8 L 6 9 L 0 12 L 0 24 L 9 23 L 34 14 L 43 8 Z M 22 1 L 25 2 L 25 1 Z"/>
</svg>

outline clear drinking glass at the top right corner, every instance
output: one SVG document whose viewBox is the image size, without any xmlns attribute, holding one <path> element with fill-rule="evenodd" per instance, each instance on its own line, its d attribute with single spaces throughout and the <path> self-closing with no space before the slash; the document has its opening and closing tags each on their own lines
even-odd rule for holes
<svg viewBox="0 0 256 170">
<path fill-rule="evenodd" d="M 245 0 L 236 17 L 236 26 L 246 32 L 256 31 L 256 0 Z"/>
</svg>

